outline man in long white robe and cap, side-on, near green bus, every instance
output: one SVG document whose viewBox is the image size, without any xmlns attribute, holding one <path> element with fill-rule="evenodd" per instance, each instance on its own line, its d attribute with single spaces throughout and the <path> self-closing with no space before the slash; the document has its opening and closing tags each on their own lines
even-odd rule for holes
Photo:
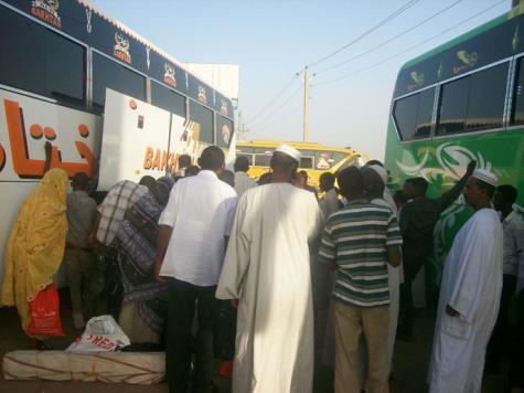
<svg viewBox="0 0 524 393">
<path fill-rule="evenodd" d="M 455 237 L 445 262 L 434 348 L 430 393 L 477 393 L 485 347 L 495 325 L 502 288 L 502 225 L 491 209 L 496 177 L 478 169 L 463 195 L 475 213 Z"/>
</svg>

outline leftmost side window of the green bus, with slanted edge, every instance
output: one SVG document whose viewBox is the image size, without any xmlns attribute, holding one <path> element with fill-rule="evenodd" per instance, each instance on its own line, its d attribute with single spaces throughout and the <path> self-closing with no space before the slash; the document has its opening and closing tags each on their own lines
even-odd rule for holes
<svg viewBox="0 0 524 393">
<path fill-rule="evenodd" d="M 435 88 L 398 99 L 393 118 L 402 140 L 427 138 L 431 131 Z"/>
</svg>

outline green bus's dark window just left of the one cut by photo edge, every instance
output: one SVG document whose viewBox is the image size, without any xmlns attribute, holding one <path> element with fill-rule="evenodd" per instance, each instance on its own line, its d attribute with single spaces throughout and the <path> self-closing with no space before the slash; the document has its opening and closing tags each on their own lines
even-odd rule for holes
<svg viewBox="0 0 524 393">
<path fill-rule="evenodd" d="M 507 63 L 471 75 L 467 131 L 502 127 Z"/>
</svg>

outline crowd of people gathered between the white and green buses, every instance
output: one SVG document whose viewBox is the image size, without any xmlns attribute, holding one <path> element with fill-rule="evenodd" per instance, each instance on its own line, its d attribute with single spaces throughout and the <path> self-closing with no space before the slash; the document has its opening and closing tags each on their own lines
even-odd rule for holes
<svg viewBox="0 0 524 393">
<path fill-rule="evenodd" d="M 429 390 L 480 392 L 484 359 L 486 370 L 500 365 L 515 294 L 510 380 L 522 387 L 515 188 L 472 161 L 438 199 L 426 198 L 424 178 L 392 195 L 387 170 L 370 161 L 323 173 L 319 199 L 299 163 L 282 145 L 256 182 L 245 157 L 231 172 L 210 146 L 197 164 L 182 156 L 172 174 L 122 180 L 97 204 L 84 173 L 66 193 L 67 176 L 47 160 L 11 231 L 1 301 L 26 330 L 29 302 L 63 264 L 74 326 L 109 312 L 133 348 L 164 349 L 171 392 L 212 392 L 218 357 L 233 392 L 311 392 L 317 360 L 334 368 L 335 392 L 383 393 L 395 341 L 416 333 L 411 285 L 435 225 L 462 193 L 474 213 L 443 264 Z"/>
</svg>

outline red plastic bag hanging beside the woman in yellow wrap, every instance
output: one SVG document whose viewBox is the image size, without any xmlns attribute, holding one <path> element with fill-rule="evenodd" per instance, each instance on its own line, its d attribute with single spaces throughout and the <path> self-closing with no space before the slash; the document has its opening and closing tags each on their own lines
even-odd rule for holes
<svg viewBox="0 0 524 393">
<path fill-rule="evenodd" d="M 56 285 L 42 289 L 30 302 L 31 323 L 29 336 L 64 336 L 60 319 L 60 298 Z"/>
</svg>

